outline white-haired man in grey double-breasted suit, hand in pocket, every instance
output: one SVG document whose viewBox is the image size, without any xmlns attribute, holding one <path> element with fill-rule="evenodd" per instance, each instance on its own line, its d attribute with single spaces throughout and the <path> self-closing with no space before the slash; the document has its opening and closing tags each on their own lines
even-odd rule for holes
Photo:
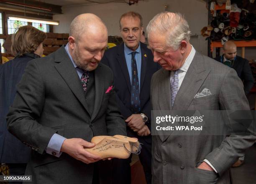
<svg viewBox="0 0 256 184">
<path fill-rule="evenodd" d="M 148 24 L 148 43 L 162 69 L 151 80 L 153 110 L 249 110 L 236 71 L 198 53 L 179 13 Z M 173 131 L 174 132 L 174 131 Z M 153 136 L 152 183 L 230 184 L 230 166 L 255 136 Z"/>
</svg>

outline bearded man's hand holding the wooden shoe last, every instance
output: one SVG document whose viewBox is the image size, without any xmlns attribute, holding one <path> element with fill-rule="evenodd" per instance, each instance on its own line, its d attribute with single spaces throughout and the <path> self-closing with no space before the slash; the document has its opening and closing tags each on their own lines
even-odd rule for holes
<svg viewBox="0 0 256 184">
<path fill-rule="evenodd" d="M 74 159 L 84 162 L 85 164 L 90 164 L 101 159 L 100 156 L 91 154 L 84 149 L 93 148 L 94 146 L 94 143 L 84 141 L 83 139 L 65 139 L 61 146 L 61 151 L 69 154 Z"/>
</svg>

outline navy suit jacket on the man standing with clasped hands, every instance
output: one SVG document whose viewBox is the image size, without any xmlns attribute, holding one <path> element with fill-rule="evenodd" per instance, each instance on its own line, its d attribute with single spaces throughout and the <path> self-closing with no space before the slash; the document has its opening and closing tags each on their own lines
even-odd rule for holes
<svg viewBox="0 0 256 184">
<path fill-rule="evenodd" d="M 124 43 L 106 50 L 102 63 L 109 66 L 114 73 L 115 91 L 117 103 L 125 119 L 132 115 L 131 112 L 131 79 L 129 77 L 124 54 Z M 153 73 L 160 69 L 158 63 L 153 62 L 153 55 L 147 45 L 141 43 L 141 87 L 140 106 L 141 112 L 148 116 L 146 123 L 150 129 L 151 103 L 150 103 L 150 81 Z M 128 128 L 133 132 L 130 128 Z"/>
</svg>

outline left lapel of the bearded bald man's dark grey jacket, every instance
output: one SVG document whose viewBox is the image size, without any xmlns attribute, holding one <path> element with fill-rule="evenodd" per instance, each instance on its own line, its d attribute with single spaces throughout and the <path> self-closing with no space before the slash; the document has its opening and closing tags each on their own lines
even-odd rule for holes
<svg viewBox="0 0 256 184">
<path fill-rule="evenodd" d="M 86 100 L 84 97 L 84 91 L 82 88 L 81 81 L 79 76 L 77 75 L 77 71 L 74 68 L 72 61 L 69 58 L 64 46 L 62 46 L 59 50 L 56 51 L 57 59 L 55 62 L 55 68 L 59 72 L 60 76 L 64 79 L 64 81 L 69 86 L 70 90 L 74 93 L 77 99 L 82 103 L 89 116 L 90 113 L 88 111 L 88 107 L 86 105 Z"/>
</svg>

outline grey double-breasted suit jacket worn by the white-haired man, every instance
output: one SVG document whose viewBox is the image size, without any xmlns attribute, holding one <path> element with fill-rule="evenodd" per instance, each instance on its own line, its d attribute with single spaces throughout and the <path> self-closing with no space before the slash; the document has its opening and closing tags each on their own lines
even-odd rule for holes
<svg viewBox="0 0 256 184">
<path fill-rule="evenodd" d="M 194 98 L 204 88 L 212 95 Z M 250 110 L 236 71 L 196 52 L 171 105 L 170 72 L 161 69 L 151 80 L 153 110 Z M 153 136 L 154 184 L 230 184 L 229 168 L 243 156 L 255 136 Z M 207 159 L 218 171 L 196 167 Z"/>
</svg>

